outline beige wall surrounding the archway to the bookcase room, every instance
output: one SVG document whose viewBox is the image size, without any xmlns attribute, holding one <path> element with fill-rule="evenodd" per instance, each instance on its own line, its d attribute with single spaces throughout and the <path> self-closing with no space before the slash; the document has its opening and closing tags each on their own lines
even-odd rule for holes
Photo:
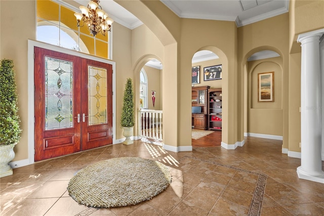
<svg viewBox="0 0 324 216">
<path fill-rule="evenodd" d="M 192 26 L 195 32 L 192 33 Z M 211 28 L 211 26 L 213 26 Z M 220 30 L 222 29 L 222 30 Z M 187 146 L 191 143 L 188 134 L 191 131 L 191 60 L 195 52 L 199 50 L 210 50 L 219 56 L 222 63 L 222 94 L 223 106 L 228 110 L 223 110 L 222 141 L 232 145 L 237 140 L 237 28 L 234 22 L 183 19 L 181 29 L 180 47 L 180 70 L 179 86 L 181 98 L 179 98 L 181 142 L 180 146 Z M 188 76 L 189 75 L 189 76 Z M 209 81 L 212 82 L 212 81 Z M 180 129 L 179 128 L 179 129 Z M 241 141 L 241 140 L 240 140 Z"/>
</svg>

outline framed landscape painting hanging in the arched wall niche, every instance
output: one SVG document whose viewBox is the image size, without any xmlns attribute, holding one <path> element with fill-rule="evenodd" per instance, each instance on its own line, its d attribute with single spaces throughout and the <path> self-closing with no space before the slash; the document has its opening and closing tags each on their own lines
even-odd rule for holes
<svg viewBox="0 0 324 216">
<path fill-rule="evenodd" d="M 274 101 L 274 71 L 258 74 L 258 102 Z"/>
</svg>

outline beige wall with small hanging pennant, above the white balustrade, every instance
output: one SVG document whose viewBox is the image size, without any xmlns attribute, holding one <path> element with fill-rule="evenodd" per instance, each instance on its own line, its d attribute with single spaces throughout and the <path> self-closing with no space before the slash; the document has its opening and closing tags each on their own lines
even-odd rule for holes
<svg viewBox="0 0 324 216">
<path fill-rule="evenodd" d="M 162 70 L 156 69 L 153 67 L 144 66 L 145 73 L 147 75 L 147 102 L 149 110 L 162 110 L 161 100 L 162 100 L 162 91 L 160 88 L 160 79 Z M 151 91 L 155 91 L 155 103 L 153 106 Z"/>
</svg>

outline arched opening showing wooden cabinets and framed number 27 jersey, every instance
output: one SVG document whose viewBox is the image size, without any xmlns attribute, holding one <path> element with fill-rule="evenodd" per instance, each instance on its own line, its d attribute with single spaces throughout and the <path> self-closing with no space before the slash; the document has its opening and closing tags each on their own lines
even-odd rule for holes
<svg viewBox="0 0 324 216">
<path fill-rule="evenodd" d="M 198 139 L 192 137 L 192 147 L 220 146 L 222 141 L 222 62 L 214 52 L 210 50 L 199 50 L 193 55 L 191 63 L 192 134 L 196 132 L 207 134 Z M 201 90 L 199 90 L 200 88 Z M 207 93 L 204 102 L 201 101 L 203 104 L 195 101 L 197 91 L 206 91 Z M 200 100 L 199 95 L 198 97 L 199 99 L 197 100 Z M 201 107 L 204 109 L 201 109 Z M 197 129 L 204 131 L 197 131 Z"/>
</svg>

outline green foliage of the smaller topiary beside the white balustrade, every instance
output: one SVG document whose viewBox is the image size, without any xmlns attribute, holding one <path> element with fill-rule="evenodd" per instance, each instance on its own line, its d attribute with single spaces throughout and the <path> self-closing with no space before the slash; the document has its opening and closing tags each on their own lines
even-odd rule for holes
<svg viewBox="0 0 324 216">
<path fill-rule="evenodd" d="M 123 109 L 121 110 L 121 127 L 134 126 L 134 92 L 133 81 L 127 79 L 124 90 Z"/>
</svg>

